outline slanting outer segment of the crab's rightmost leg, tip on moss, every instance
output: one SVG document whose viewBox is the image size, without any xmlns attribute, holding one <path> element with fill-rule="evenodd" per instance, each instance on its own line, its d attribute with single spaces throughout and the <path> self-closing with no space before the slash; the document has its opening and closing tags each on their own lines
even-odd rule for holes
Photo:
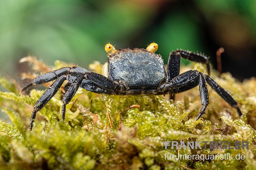
<svg viewBox="0 0 256 170">
<path fill-rule="evenodd" d="M 230 106 L 236 109 L 239 116 L 242 116 L 242 112 L 239 109 L 236 100 L 225 89 L 220 87 L 220 85 L 209 76 L 206 76 L 206 81 Z"/>
</svg>

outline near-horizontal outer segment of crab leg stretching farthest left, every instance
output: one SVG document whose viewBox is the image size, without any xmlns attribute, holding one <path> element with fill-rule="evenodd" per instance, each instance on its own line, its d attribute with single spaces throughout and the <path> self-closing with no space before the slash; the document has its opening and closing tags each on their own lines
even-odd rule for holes
<svg viewBox="0 0 256 170">
<path fill-rule="evenodd" d="M 58 77 L 60 77 L 61 75 L 67 74 L 70 70 L 71 70 L 70 67 L 63 67 L 63 68 L 60 68 L 58 70 L 54 70 L 52 72 L 39 75 L 35 79 L 33 79 L 33 81 L 26 84 L 21 89 L 21 91 L 24 91 L 24 90 L 28 89 L 32 85 L 39 85 L 39 84 L 43 84 L 43 83 L 55 80 Z"/>
</svg>

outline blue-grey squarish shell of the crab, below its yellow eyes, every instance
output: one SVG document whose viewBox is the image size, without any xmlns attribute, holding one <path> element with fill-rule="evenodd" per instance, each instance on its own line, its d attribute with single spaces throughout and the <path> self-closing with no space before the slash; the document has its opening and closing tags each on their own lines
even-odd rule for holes
<svg viewBox="0 0 256 170">
<path fill-rule="evenodd" d="M 143 48 L 125 48 L 108 55 L 108 78 L 126 83 L 130 89 L 156 88 L 168 80 L 162 56 Z"/>
</svg>

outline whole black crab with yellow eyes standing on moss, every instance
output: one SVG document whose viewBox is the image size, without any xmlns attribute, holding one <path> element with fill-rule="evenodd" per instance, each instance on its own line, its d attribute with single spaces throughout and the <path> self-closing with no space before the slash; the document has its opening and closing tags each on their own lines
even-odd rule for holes
<svg viewBox="0 0 256 170">
<path fill-rule="evenodd" d="M 106 44 L 105 51 L 108 53 L 108 76 L 87 71 L 76 67 L 63 67 L 49 73 L 39 75 L 33 81 L 25 85 L 21 91 L 32 85 L 39 85 L 55 80 L 52 85 L 37 100 L 30 119 L 32 130 L 36 113 L 58 92 L 62 83 L 67 80 L 62 92 L 62 120 L 65 120 L 66 105 L 76 94 L 78 88 L 83 88 L 94 93 L 108 95 L 172 95 L 187 91 L 199 85 L 201 103 L 203 107 L 198 113 L 198 120 L 206 110 L 209 103 L 207 84 L 214 89 L 230 106 L 236 109 L 239 116 L 242 115 L 236 100 L 223 88 L 220 87 L 210 75 L 210 63 L 206 56 L 185 50 L 176 50 L 170 53 L 167 69 L 156 43 L 151 43 L 144 48 L 124 48 L 116 50 L 110 43 Z M 180 59 L 206 65 L 208 75 L 197 70 L 189 70 L 180 74 Z"/>
</svg>

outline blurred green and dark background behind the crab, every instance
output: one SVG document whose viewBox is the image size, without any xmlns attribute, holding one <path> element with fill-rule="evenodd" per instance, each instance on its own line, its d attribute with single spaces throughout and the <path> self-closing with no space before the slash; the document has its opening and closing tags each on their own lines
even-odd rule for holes
<svg viewBox="0 0 256 170">
<path fill-rule="evenodd" d="M 153 41 L 165 63 L 182 48 L 205 53 L 216 68 L 224 47 L 223 72 L 239 80 L 256 75 L 255 0 L 0 0 L 0 22 L 1 72 L 15 78 L 28 71 L 18 61 L 29 54 L 88 68 L 107 61 L 108 42 L 118 49 Z"/>
</svg>

